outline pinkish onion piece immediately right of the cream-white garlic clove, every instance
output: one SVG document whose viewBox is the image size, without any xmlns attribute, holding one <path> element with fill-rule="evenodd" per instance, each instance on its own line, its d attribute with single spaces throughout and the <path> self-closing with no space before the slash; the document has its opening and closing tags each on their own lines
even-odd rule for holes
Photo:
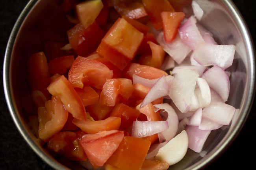
<svg viewBox="0 0 256 170">
<path fill-rule="evenodd" d="M 210 130 L 200 130 L 198 126 L 186 126 L 186 132 L 189 139 L 188 147 L 197 153 L 202 151 L 204 143 L 211 133 Z"/>
</svg>

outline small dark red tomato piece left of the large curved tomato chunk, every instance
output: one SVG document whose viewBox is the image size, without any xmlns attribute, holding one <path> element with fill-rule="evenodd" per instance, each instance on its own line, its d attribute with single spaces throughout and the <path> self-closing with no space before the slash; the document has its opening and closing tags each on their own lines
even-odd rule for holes
<svg viewBox="0 0 256 170">
<path fill-rule="evenodd" d="M 72 66 L 73 62 L 74 62 L 74 56 L 72 55 L 50 60 L 48 63 L 50 74 L 54 75 L 56 73 L 58 74 L 66 73 L 67 70 L 70 69 L 70 67 Z"/>
</svg>

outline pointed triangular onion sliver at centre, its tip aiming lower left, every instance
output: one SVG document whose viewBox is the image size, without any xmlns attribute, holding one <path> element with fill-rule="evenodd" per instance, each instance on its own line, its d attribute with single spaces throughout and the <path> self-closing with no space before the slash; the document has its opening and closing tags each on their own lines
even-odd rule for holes
<svg viewBox="0 0 256 170">
<path fill-rule="evenodd" d="M 141 106 L 139 108 L 143 108 L 148 103 L 159 99 L 160 97 L 164 97 L 168 95 L 169 92 L 169 84 L 170 81 L 167 82 L 165 76 L 163 75 L 158 81 L 154 84 L 154 86 L 148 91 L 145 99 L 141 102 Z"/>
</svg>

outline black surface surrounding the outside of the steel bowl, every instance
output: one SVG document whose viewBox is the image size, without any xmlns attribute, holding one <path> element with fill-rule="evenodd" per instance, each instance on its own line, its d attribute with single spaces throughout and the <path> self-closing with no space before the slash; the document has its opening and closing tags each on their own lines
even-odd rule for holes
<svg viewBox="0 0 256 170">
<path fill-rule="evenodd" d="M 0 57 L 2 66 L 11 29 L 28 0 L 0 0 Z M 256 43 L 256 1 L 234 0 Z M 17 131 L 4 98 L 0 80 L 0 170 L 48 170 L 46 165 L 26 144 Z M 254 104 L 253 104 L 254 105 Z M 256 163 L 256 113 L 252 108 L 245 126 L 230 147 L 206 170 L 254 169 Z M 253 168 L 254 167 L 254 168 Z"/>
</svg>

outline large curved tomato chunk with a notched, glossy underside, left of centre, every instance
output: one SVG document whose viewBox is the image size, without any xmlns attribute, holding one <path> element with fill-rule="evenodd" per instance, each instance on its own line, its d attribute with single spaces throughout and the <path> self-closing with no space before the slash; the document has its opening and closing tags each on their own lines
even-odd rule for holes
<svg viewBox="0 0 256 170">
<path fill-rule="evenodd" d="M 101 89 L 107 79 L 113 77 L 113 71 L 96 60 L 78 56 L 70 70 L 69 82 L 74 88 L 83 88 L 83 85 L 90 85 Z"/>
</svg>

